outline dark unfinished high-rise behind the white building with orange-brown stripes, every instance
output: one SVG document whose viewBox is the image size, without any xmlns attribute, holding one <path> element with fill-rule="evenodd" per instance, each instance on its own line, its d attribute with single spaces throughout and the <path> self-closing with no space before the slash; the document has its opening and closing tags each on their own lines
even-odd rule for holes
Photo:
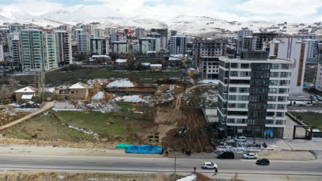
<svg viewBox="0 0 322 181">
<path fill-rule="evenodd" d="M 271 41 L 273 38 L 281 37 L 282 33 L 270 33 L 270 32 L 262 32 L 262 33 L 253 33 L 252 39 L 252 49 L 251 50 L 262 50 L 263 42 Z"/>
</svg>

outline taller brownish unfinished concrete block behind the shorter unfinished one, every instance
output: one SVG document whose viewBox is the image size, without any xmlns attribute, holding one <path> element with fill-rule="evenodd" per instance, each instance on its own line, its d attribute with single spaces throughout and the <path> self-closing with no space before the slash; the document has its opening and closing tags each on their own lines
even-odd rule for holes
<svg viewBox="0 0 322 181">
<path fill-rule="evenodd" d="M 200 61 L 202 57 L 207 56 L 225 56 L 226 51 L 226 41 L 222 40 L 204 40 L 204 39 L 198 39 L 194 42 L 194 48 L 193 48 L 193 64 L 194 67 L 200 70 Z M 203 70 L 201 71 L 203 72 Z"/>
</svg>

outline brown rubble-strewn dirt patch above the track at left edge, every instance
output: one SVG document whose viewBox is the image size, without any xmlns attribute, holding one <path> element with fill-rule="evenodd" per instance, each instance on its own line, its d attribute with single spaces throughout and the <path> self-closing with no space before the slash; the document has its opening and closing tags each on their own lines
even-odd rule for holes
<svg viewBox="0 0 322 181">
<path fill-rule="evenodd" d="M 14 109 L 0 110 L 0 126 L 6 125 L 10 122 L 14 122 L 24 116 L 31 114 L 30 112 L 20 112 Z"/>
</svg>

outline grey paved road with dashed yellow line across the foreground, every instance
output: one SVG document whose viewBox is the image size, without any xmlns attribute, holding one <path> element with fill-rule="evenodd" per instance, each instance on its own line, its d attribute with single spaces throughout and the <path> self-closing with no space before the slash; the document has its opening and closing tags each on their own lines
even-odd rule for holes
<svg viewBox="0 0 322 181">
<path fill-rule="evenodd" d="M 252 174 L 300 174 L 320 175 L 321 162 L 309 161 L 271 161 L 269 166 L 258 166 L 255 160 L 225 159 L 176 159 L 176 172 L 213 173 L 212 169 L 202 169 L 206 161 L 218 165 L 220 173 L 252 173 Z M 12 156 L 0 155 L 0 167 L 26 168 L 41 170 L 96 170 L 96 171 L 151 171 L 174 172 L 175 159 L 173 158 L 95 158 L 95 157 L 46 157 L 46 156 Z"/>
</svg>

